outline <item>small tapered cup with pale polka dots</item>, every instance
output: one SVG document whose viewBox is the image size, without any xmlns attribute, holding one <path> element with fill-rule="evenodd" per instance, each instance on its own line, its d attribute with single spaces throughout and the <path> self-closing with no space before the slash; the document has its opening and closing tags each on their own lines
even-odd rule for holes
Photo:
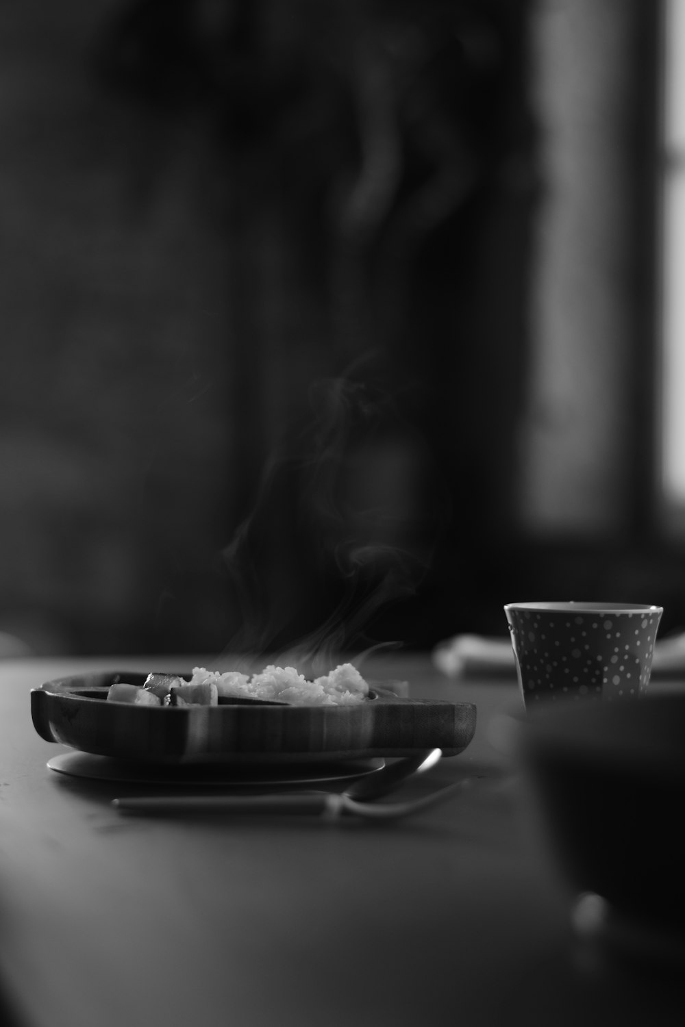
<svg viewBox="0 0 685 1027">
<path fill-rule="evenodd" d="M 632 603 L 508 603 L 524 705 L 634 699 L 649 685 L 663 609 Z"/>
</svg>

